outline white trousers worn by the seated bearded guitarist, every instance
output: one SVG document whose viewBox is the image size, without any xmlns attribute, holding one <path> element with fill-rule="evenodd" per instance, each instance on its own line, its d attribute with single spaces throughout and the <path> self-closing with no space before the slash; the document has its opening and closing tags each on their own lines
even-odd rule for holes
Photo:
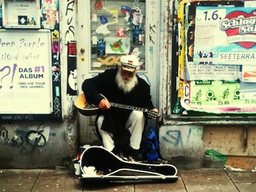
<svg viewBox="0 0 256 192">
<path fill-rule="evenodd" d="M 112 151 L 115 147 L 113 140 L 113 133 L 104 131 L 101 129 L 104 120 L 104 115 L 100 115 L 97 121 L 97 127 L 102 137 L 103 147 L 107 150 Z M 125 124 L 125 129 L 128 129 L 130 137 L 130 147 L 133 149 L 140 149 L 140 142 L 142 139 L 142 133 L 144 130 L 146 118 L 141 111 L 132 111 Z"/>
</svg>

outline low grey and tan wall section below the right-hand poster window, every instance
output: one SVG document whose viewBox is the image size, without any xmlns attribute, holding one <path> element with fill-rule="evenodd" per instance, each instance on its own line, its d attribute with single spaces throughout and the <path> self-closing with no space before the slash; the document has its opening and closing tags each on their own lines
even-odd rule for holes
<svg viewBox="0 0 256 192">
<path fill-rule="evenodd" d="M 205 151 L 214 150 L 227 156 L 226 165 L 250 171 L 256 166 L 255 132 L 253 125 L 163 125 L 160 153 L 177 167 L 194 169 L 210 166 Z"/>
</svg>

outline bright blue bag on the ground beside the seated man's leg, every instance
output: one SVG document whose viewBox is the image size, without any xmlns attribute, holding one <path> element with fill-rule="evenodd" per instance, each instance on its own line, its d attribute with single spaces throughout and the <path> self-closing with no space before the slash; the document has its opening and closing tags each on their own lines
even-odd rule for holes
<svg viewBox="0 0 256 192">
<path fill-rule="evenodd" d="M 149 132 L 146 137 L 143 154 L 148 161 L 156 161 L 158 159 L 158 140 L 154 128 L 149 127 Z"/>
</svg>

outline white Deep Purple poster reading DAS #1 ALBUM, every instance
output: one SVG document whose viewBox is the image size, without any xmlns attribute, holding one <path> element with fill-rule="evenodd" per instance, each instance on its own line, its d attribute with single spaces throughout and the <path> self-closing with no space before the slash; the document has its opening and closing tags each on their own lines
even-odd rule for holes
<svg viewBox="0 0 256 192">
<path fill-rule="evenodd" d="M 0 33 L 0 114 L 53 112 L 51 32 Z"/>
</svg>

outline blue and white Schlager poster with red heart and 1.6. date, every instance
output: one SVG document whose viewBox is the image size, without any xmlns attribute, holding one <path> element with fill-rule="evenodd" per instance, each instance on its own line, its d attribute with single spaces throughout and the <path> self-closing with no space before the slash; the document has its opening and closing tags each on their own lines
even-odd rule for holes
<svg viewBox="0 0 256 192">
<path fill-rule="evenodd" d="M 195 63 L 256 65 L 256 7 L 196 7 Z"/>
</svg>

